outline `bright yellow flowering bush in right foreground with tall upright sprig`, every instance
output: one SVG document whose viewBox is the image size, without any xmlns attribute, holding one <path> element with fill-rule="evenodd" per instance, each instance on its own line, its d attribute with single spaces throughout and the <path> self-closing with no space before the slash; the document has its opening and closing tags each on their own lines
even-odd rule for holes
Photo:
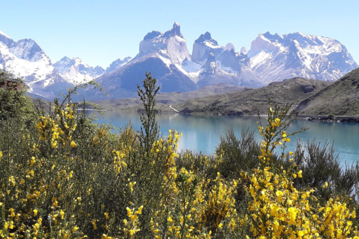
<svg viewBox="0 0 359 239">
<path fill-rule="evenodd" d="M 357 238 L 358 233 L 351 221 L 356 217 L 354 209 L 336 197 L 321 207 L 314 196 L 315 189 L 297 190 L 295 178 L 302 177 L 302 170 L 292 163 L 288 170 L 273 170 L 274 149 L 290 141 L 285 130 L 289 123 L 286 112 L 277 107 L 269 109 L 266 127 L 259 126 L 262 135 L 260 165 L 250 177 L 247 190 L 252 200 L 248 204 L 248 215 L 252 238 L 257 239 L 334 239 Z M 259 123 L 259 122 L 258 122 Z M 291 156 L 292 153 L 289 153 Z M 282 160 L 285 157 L 281 154 Z M 293 159 L 288 159 L 292 162 Z"/>
</svg>

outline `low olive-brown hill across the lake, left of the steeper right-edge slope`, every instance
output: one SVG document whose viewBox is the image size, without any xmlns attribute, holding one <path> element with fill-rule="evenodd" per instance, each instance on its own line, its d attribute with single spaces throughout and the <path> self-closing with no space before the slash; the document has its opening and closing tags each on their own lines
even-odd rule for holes
<svg viewBox="0 0 359 239">
<path fill-rule="evenodd" d="M 244 89 L 234 93 L 214 95 L 199 99 L 191 99 L 173 106 L 183 113 L 222 114 L 222 115 L 256 115 L 266 114 L 267 100 L 284 106 L 293 103 L 296 107 L 304 99 L 315 95 L 330 83 L 319 80 L 293 78 L 283 82 L 273 82 L 258 89 Z"/>
</svg>

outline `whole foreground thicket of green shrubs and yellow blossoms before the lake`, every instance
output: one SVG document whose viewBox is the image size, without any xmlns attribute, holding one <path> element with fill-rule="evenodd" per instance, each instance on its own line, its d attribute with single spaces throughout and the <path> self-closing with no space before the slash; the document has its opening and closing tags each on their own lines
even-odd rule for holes
<svg viewBox="0 0 359 239">
<path fill-rule="evenodd" d="M 180 133 L 159 134 L 155 84 L 138 87 L 140 131 L 95 124 L 72 91 L 45 111 L 0 89 L 0 237 L 359 239 L 359 167 L 328 144 L 294 147 L 289 106 L 269 102 L 261 141 L 228 128 L 214 155 L 178 152 Z"/>
</svg>

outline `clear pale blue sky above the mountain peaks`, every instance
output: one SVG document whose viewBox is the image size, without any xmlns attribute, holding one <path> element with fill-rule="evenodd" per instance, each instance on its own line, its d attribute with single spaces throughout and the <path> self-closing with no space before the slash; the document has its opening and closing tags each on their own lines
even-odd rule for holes
<svg viewBox="0 0 359 239">
<path fill-rule="evenodd" d="M 52 63 L 76 56 L 104 68 L 134 57 L 149 31 L 164 32 L 175 21 L 190 53 L 206 31 L 238 51 L 259 33 L 300 31 L 339 40 L 359 63 L 358 9 L 358 0 L 11 0 L 0 3 L 0 30 L 32 38 Z"/>
</svg>

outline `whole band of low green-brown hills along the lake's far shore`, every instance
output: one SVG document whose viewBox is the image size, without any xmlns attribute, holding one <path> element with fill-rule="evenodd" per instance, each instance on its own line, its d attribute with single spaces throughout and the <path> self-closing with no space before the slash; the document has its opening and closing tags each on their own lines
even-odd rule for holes
<svg viewBox="0 0 359 239">
<path fill-rule="evenodd" d="M 335 82 L 295 77 L 257 89 L 220 83 L 187 93 L 158 94 L 156 110 L 200 115 L 266 115 L 268 98 L 280 107 L 292 104 L 291 110 L 302 118 L 333 120 L 339 117 L 339 120 L 359 122 L 359 68 Z M 144 110 L 139 98 L 96 103 L 110 111 Z"/>
</svg>

